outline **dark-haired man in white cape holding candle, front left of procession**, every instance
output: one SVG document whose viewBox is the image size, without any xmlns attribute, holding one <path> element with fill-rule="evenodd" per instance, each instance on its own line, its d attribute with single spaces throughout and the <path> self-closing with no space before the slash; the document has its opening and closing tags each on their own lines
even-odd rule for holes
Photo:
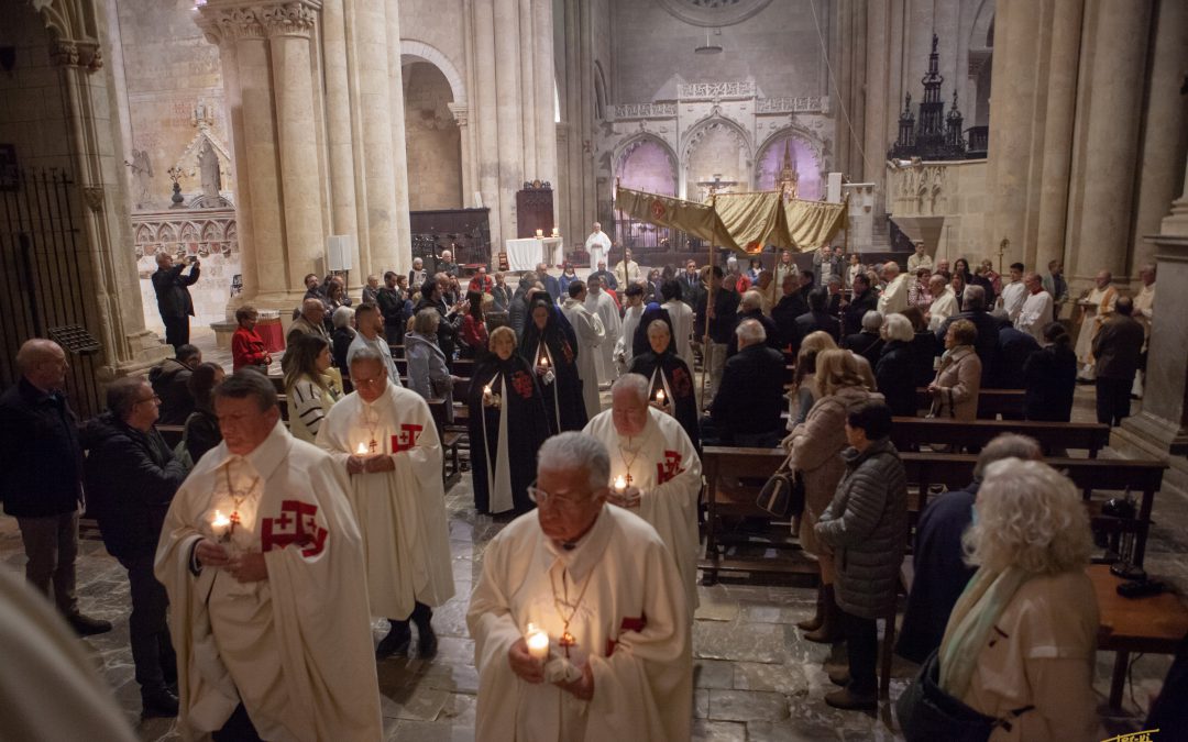
<svg viewBox="0 0 1188 742">
<path fill-rule="evenodd" d="M 175 495 L 154 564 L 177 648 L 178 731 L 381 738 L 346 475 L 289 435 L 259 373 L 228 376 L 214 407 L 223 440 Z"/>
</svg>

